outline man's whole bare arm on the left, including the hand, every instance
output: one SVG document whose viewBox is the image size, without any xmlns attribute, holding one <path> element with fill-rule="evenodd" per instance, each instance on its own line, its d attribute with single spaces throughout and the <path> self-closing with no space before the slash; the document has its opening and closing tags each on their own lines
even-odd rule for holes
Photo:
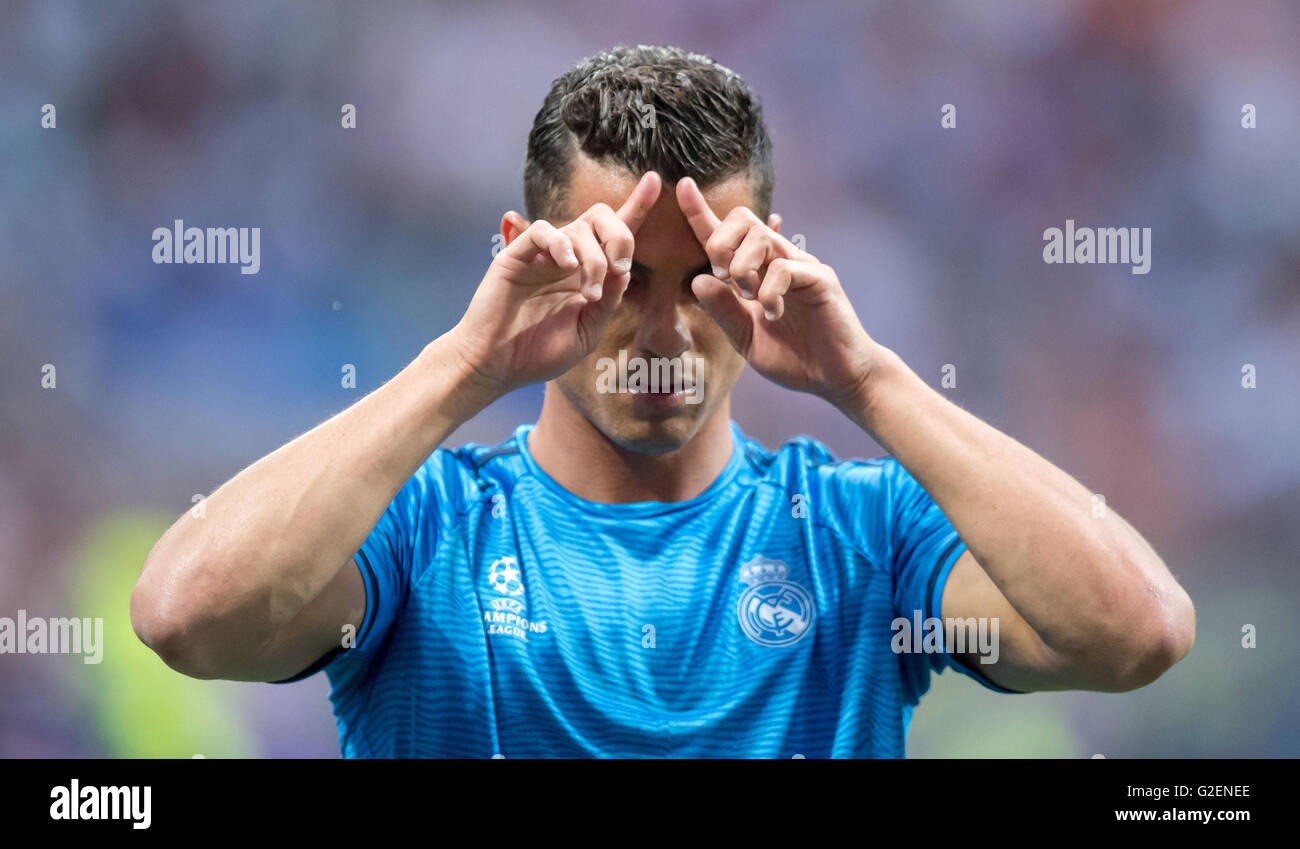
<svg viewBox="0 0 1300 849">
<path fill-rule="evenodd" d="M 365 588 L 352 555 L 447 434 L 592 351 L 660 186 L 650 172 L 618 213 L 597 204 L 559 229 L 506 213 L 507 246 L 455 328 L 159 540 L 131 593 L 140 640 L 194 677 L 273 681 L 339 647 L 344 625 L 359 631 Z"/>
</svg>

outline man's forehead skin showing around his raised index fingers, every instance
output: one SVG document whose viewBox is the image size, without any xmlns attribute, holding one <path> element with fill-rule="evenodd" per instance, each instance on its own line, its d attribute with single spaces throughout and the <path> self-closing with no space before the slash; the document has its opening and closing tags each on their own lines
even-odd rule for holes
<svg viewBox="0 0 1300 849">
<path fill-rule="evenodd" d="M 597 203 L 608 204 L 618 212 L 640 179 L 641 174 L 633 174 L 623 165 L 597 163 L 585 153 L 578 153 L 569 176 L 569 220 Z M 701 191 L 719 218 L 725 218 L 736 207 L 751 207 L 754 203 L 753 185 L 745 174 L 728 177 Z M 676 183 L 663 185 L 659 199 L 636 233 L 636 241 L 638 257 L 666 254 L 696 263 L 703 256 L 703 247 L 677 205 Z"/>
</svg>

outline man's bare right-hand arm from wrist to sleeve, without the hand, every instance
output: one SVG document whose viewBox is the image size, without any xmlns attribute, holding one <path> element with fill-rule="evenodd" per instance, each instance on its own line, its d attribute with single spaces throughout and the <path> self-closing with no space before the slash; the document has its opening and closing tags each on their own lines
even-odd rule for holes
<svg viewBox="0 0 1300 849">
<path fill-rule="evenodd" d="M 1191 649 L 1195 611 L 1160 555 L 1092 493 L 942 398 L 879 347 L 842 410 L 916 478 L 966 542 L 945 618 L 996 616 L 1001 657 L 965 662 L 1017 690 L 1128 690 Z"/>
</svg>

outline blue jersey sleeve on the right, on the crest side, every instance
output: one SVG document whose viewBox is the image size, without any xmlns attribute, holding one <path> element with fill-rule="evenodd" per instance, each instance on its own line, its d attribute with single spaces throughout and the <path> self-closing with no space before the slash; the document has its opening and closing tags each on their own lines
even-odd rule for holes
<svg viewBox="0 0 1300 849">
<path fill-rule="evenodd" d="M 942 621 L 944 586 L 966 551 L 966 543 L 939 504 L 897 460 L 889 460 L 890 568 L 894 576 L 894 615 L 909 627 L 927 619 Z M 957 670 L 998 693 L 1015 693 L 998 686 L 957 659 L 944 645 L 944 628 L 937 629 L 939 651 L 905 654 L 907 677 L 919 698 L 930 685 L 931 670 Z"/>
</svg>

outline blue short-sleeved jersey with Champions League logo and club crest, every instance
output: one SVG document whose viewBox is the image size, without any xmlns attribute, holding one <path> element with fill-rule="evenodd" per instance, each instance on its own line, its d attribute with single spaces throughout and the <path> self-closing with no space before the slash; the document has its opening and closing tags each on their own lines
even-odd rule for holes
<svg viewBox="0 0 1300 849">
<path fill-rule="evenodd" d="M 966 547 L 906 469 L 731 430 L 685 502 L 578 498 L 532 425 L 434 451 L 356 554 L 355 645 L 303 673 L 343 755 L 902 757 L 932 670 L 1005 692 L 894 650 Z"/>
</svg>

